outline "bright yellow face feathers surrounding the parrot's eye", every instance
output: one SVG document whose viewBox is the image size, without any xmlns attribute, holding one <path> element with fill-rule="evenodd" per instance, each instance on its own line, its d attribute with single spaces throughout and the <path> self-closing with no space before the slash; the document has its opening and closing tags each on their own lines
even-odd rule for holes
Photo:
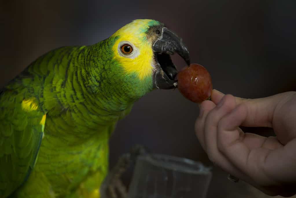
<svg viewBox="0 0 296 198">
<path fill-rule="evenodd" d="M 114 53 L 114 59 L 118 60 L 127 74 L 136 72 L 139 79 L 144 79 L 147 76 L 152 75 L 154 69 L 153 65 L 153 50 L 152 44 L 146 38 L 146 30 L 149 28 L 149 22 L 152 20 L 134 20 L 129 23 L 112 36 L 119 36 L 119 39 L 112 47 Z M 123 57 L 118 52 L 118 45 L 122 41 L 128 41 L 138 48 L 139 55 L 136 58 Z"/>
</svg>

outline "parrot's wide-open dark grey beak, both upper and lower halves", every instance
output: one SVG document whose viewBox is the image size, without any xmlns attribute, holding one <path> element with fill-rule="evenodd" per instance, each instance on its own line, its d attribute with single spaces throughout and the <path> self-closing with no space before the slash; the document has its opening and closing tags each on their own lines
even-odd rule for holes
<svg viewBox="0 0 296 198">
<path fill-rule="evenodd" d="M 154 85 L 158 89 L 172 89 L 177 87 L 175 77 L 178 73 L 169 55 L 178 53 L 190 65 L 189 51 L 182 39 L 168 28 L 162 28 L 161 35 L 152 46 L 156 52 L 156 62 L 159 65 L 154 73 Z"/>
</svg>

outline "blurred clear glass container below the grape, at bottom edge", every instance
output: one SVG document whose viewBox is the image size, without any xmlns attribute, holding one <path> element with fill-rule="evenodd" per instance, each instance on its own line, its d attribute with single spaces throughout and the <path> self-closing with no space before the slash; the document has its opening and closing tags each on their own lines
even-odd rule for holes
<svg viewBox="0 0 296 198">
<path fill-rule="evenodd" d="M 200 162 L 168 155 L 137 158 L 128 198 L 205 198 L 212 178 Z"/>
</svg>

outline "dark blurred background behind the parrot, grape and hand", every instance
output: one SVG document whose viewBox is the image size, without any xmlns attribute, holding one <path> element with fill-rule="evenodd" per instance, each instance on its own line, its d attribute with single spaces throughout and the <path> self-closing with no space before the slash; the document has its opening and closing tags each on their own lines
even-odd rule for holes
<svg viewBox="0 0 296 198">
<path fill-rule="evenodd" d="M 45 52 L 99 42 L 134 19 L 164 22 L 183 38 L 192 63 L 213 87 L 244 98 L 296 90 L 296 1 L 1 0 L 0 87 Z M 174 56 L 180 69 L 185 63 Z M 212 165 L 194 134 L 198 106 L 178 90 L 156 90 L 135 103 L 110 140 L 110 167 L 134 144 Z M 245 129 L 271 135 L 269 129 Z M 208 198 L 268 197 L 213 168 Z M 129 183 L 131 171 L 124 175 Z"/>
</svg>

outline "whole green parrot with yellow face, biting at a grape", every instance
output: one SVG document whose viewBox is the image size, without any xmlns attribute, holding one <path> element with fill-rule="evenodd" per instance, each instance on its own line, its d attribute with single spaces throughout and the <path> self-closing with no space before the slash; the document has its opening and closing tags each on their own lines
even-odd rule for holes
<svg viewBox="0 0 296 198">
<path fill-rule="evenodd" d="M 0 198 L 99 198 L 118 120 L 148 92 L 177 87 L 175 53 L 190 64 L 176 33 L 138 19 L 33 61 L 0 91 Z"/>
</svg>

